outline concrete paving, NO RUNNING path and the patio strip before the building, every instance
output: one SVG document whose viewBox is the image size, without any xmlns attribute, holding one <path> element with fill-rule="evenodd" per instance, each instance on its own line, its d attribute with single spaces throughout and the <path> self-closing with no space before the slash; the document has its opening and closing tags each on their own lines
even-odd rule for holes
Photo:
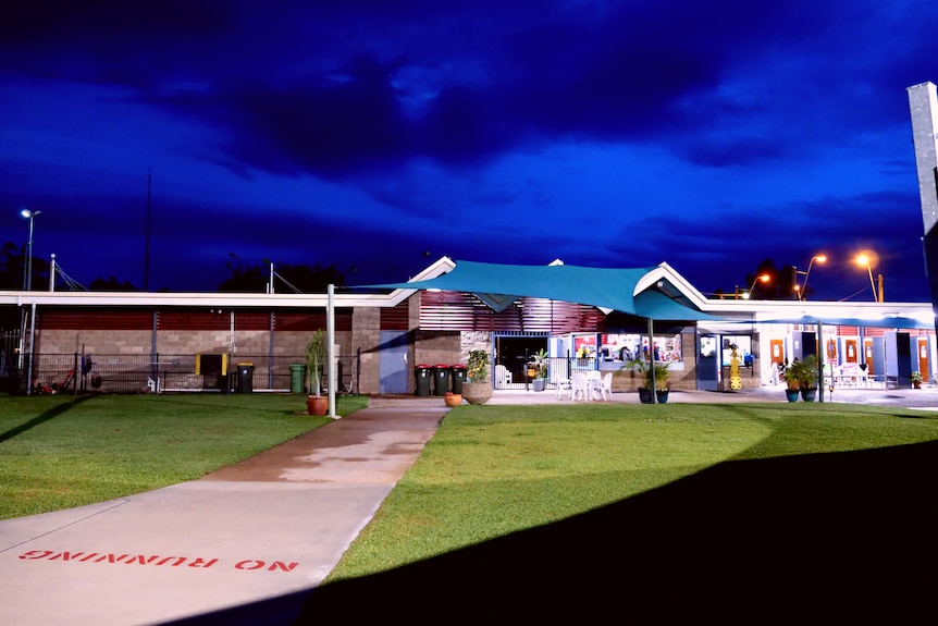
<svg viewBox="0 0 938 626">
<path fill-rule="evenodd" d="M 838 390 L 834 400 L 929 408 L 938 390 Z M 785 402 L 780 388 L 669 400 L 753 401 Z M 555 402 L 569 403 L 526 391 L 491 401 Z M 447 410 L 439 397 L 377 397 L 200 480 L 0 521 L 0 624 L 289 624 Z M 236 617 L 225 613 L 234 606 Z"/>
</svg>

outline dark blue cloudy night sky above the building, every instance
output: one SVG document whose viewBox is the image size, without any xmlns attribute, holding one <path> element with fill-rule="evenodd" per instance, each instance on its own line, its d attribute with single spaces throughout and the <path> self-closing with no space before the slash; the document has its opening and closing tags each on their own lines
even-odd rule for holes
<svg viewBox="0 0 938 626">
<path fill-rule="evenodd" d="M 440 256 L 669 262 L 927 300 L 906 87 L 938 2 L 18 2 L 0 20 L 0 243 L 84 284 L 248 265 L 399 281 Z M 429 253 L 429 256 L 427 256 Z M 353 272 L 355 268 L 355 272 Z"/>
</svg>

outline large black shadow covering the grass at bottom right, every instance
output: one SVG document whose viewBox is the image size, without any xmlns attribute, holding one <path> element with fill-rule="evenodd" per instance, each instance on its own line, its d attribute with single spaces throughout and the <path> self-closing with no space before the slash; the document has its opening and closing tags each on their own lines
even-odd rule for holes
<svg viewBox="0 0 938 626">
<path fill-rule="evenodd" d="M 890 623 L 933 614 L 938 442 L 732 461 L 313 590 L 296 624 Z"/>
</svg>

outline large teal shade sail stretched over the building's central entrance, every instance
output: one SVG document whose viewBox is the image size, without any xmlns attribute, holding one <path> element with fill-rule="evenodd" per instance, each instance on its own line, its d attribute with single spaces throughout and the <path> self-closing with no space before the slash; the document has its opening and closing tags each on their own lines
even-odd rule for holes
<svg viewBox="0 0 938 626">
<path fill-rule="evenodd" d="M 529 296 L 591 305 L 649 319 L 720 319 L 684 306 L 654 289 L 635 295 L 639 282 L 655 269 L 456 261 L 449 273 L 434 279 L 366 286 L 472 293 L 495 310 L 504 310 L 519 297 Z"/>
</svg>

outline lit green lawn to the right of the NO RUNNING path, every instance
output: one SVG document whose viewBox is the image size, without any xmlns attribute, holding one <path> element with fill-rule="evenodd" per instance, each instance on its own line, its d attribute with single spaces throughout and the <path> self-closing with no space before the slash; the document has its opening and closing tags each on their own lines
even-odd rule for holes
<svg viewBox="0 0 938 626">
<path fill-rule="evenodd" d="M 730 459 L 938 440 L 927 412 L 848 404 L 462 406 L 329 581 L 545 525 Z"/>
</svg>

